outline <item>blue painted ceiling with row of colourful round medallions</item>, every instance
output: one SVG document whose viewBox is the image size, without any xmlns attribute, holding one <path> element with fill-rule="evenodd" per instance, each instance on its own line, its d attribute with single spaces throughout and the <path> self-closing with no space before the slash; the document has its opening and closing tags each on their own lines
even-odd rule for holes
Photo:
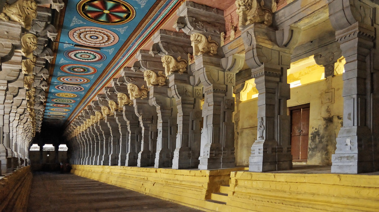
<svg viewBox="0 0 379 212">
<path fill-rule="evenodd" d="M 121 49 L 159 0 L 68 0 L 44 122 L 71 121 L 178 0 L 168 0 L 130 46 Z M 116 62 L 113 62 L 116 61 Z M 108 64 L 114 64 L 107 67 Z"/>
</svg>

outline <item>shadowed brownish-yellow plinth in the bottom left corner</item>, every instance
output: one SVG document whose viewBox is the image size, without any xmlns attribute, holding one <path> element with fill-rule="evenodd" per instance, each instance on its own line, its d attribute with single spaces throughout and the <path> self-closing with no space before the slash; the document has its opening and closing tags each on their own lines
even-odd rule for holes
<svg viewBox="0 0 379 212">
<path fill-rule="evenodd" d="M 22 167 L 0 179 L 0 211 L 26 212 L 32 187 L 30 166 Z"/>
</svg>

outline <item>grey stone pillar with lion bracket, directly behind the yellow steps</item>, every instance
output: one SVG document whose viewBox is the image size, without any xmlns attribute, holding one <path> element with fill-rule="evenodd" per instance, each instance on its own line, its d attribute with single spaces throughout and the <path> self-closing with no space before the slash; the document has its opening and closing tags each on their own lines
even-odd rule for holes
<svg viewBox="0 0 379 212">
<path fill-rule="evenodd" d="M 225 30 L 224 12 L 215 8 L 184 2 L 177 10 L 176 30 L 190 35 L 195 68 L 192 85 L 204 86 L 203 129 L 199 169 L 234 167 L 234 125 L 231 77 L 221 67 L 219 49 Z M 202 25 L 197 23 L 201 22 Z"/>
</svg>

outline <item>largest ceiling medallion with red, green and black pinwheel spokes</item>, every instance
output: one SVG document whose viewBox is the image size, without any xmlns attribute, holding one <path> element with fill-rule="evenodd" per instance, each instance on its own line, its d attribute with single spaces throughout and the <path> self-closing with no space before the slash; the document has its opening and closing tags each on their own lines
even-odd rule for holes
<svg viewBox="0 0 379 212">
<path fill-rule="evenodd" d="M 136 16 L 132 5 L 122 0 L 81 0 L 76 9 L 88 21 L 105 25 L 124 24 Z"/>
</svg>

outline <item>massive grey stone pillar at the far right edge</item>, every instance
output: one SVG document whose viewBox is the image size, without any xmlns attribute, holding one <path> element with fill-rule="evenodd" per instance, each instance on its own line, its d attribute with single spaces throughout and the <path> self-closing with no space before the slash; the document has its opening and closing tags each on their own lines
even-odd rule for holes
<svg viewBox="0 0 379 212">
<path fill-rule="evenodd" d="M 379 63 L 376 47 L 378 20 L 372 1 L 329 0 L 329 18 L 345 57 L 344 122 L 332 155 L 331 172 L 362 173 L 379 170 L 377 111 Z M 375 135 L 375 136 L 374 136 Z"/>
</svg>

